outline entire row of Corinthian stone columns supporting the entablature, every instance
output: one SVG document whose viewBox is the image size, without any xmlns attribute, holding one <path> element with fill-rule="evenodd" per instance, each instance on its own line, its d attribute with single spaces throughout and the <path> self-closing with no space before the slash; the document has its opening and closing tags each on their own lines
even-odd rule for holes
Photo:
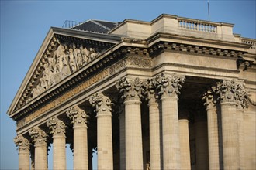
<svg viewBox="0 0 256 170">
<path fill-rule="evenodd" d="M 185 76 L 157 75 L 147 81 L 124 77 L 116 81 L 123 98 L 119 113 L 120 169 L 144 169 L 140 104 L 148 101 L 150 131 L 150 169 L 190 169 L 189 121 L 178 118 L 178 94 Z M 237 121 L 237 105 L 244 107 L 247 93 L 240 82 L 223 80 L 205 93 L 209 169 L 220 168 L 220 145 L 223 146 L 223 168 L 239 169 L 243 145 L 238 138 L 242 125 Z M 219 102 L 219 104 L 218 104 Z M 112 101 L 103 93 L 95 93 L 89 103 L 97 117 L 98 169 L 113 169 Z M 220 109 L 218 109 L 220 106 Z M 220 114 L 221 113 L 221 114 Z M 88 169 L 88 125 L 85 110 L 74 105 L 66 110 L 74 131 L 74 169 Z M 221 115 L 220 129 L 217 114 Z M 238 122 L 238 123 L 237 123 Z M 50 117 L 47 127 L 53 139 L 54 169 L 66 169 L 66 125 L 58 117 Z M 220 131 L 223 143 L 220 144 Z M 30 148 L 34 148 L 34 168 L 47 169 L 47 134 L 40 127 L 29 130 L 29 138 L 18 135 L 19 169 L 29 169 Z M 33 147 L 31 147 L 33 145 Z"/>
</svg>

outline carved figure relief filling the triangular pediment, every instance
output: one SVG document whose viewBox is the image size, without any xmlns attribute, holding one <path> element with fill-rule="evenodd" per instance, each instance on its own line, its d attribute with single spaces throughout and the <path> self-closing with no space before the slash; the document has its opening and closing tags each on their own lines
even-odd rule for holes
<svg viewBox="0 0 256 170">
<path fill-rule="evenodd" d="M 33 100 L 64 77 L 81 69 L 96 56 L 99 56 L 99 49 L 74 42 L 58 42 L 52 55 L 48 56 L 47 63 L 43 65 L 43 74 L 31 91 L 29 100 Z M 26 100 L 26 103 L 29 100 Z"/>
</svg>

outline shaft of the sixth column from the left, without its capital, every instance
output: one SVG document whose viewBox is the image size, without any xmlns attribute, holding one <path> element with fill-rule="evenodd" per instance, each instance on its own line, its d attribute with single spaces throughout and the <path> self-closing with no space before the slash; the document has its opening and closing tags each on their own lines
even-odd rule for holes
<svg viewBox="0 0 256 170">
<path fill-rule="evenodd" d="M 126 169 L 143 169 L 141 115 L 139 100 L 127 100 L 125 104 Z"/>
</svg>

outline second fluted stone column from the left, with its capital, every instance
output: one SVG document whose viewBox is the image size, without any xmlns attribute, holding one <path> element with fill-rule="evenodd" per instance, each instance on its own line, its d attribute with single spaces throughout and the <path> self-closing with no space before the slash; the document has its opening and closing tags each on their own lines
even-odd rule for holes
<svg viewBox="0 0 256 170">
<path fill-rule="evenodd" d="M 47 165 L 47 134 L 38 127 L 29 130 L 35 147 L 35 170 L 46 170 Z"/>
</svg>

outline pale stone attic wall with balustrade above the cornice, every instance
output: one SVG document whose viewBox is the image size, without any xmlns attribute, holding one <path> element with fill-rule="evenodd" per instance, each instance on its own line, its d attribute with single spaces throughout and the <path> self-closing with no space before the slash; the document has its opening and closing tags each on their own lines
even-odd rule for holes
<svg viewBox="0 0 256 170">
<path fill-rule="evenodd" d="M 151 22 L 126 19 L 109 33 L 147 39 L 147 37 L 154 35 L 156 32 L 165 32 L 182 36 L 236 42 L 233 26 L 233 24 L 228 23 L 187 19 L 176 15 L 160 15 Z"/>
</svg>

